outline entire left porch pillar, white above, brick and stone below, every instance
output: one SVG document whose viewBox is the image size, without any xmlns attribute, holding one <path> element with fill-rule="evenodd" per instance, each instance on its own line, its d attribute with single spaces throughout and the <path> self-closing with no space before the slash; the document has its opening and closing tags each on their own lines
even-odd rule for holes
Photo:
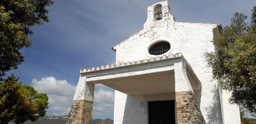
<svg viewBox="0 0 256 124">
<path fill-rule="evenodd" d="M 94 84 L 87 83 L 81 74 L 66 124 L 92 124 L 93 95 Z"/>
</svg>

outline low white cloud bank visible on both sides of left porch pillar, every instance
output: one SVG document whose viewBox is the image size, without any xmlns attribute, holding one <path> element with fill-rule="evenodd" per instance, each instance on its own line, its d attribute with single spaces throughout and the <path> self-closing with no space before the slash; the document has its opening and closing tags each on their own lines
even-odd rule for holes
<svg viewBox="0 0 256 124">
<path fill-rule="evenodd" d="M 68 115 L 76 86 L 68 84 L 66 80 L 56 80 L 54 77 L 33 79 L 32 86 L 38 90 L 38 93 L 47 93 L 49 97 L 48 115 Z M 95 85 L 93 115 L 100 118 L 113 113 L 114 98 L 114 90 L 102 84 Z"/>
</svg>

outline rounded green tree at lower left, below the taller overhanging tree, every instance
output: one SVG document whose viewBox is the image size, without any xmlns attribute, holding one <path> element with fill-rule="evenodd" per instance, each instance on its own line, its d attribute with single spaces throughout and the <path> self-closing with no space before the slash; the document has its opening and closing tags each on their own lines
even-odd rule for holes
<svg viewBox="0 0 256 124">
<path fill-rule="evenodd" d="M 46 114 L 48 96 L 37 93 L 33 86 L 22 85 L 14 75 L 0 83 L 0 123 L 36 121 Z"/>
</svg>

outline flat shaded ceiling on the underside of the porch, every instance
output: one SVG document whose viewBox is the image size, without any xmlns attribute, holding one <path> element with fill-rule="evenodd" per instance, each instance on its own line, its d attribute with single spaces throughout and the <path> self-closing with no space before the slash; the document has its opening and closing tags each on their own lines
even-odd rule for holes
<svg viewBox="0 0 256 124">
<path fill-rule="evenodd" d="M 92 81 L 128 95 L 175 92 L 174 70 Z"/>
</svg>

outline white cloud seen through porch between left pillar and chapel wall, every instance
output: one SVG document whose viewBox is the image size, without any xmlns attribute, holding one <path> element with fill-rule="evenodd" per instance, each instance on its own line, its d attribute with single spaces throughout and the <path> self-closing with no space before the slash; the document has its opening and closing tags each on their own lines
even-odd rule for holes
<svg viewBox="0 0 256 124">
<path fill-rule="evenodd" d="M 94 91 L 93 115 L 105 115 L 114 111 L 115 92 L 104 90 L 104 85 L 95 85 L 100 87 Z M 95 117 L 94 117 L 95 118 Z"/>
</svg>

